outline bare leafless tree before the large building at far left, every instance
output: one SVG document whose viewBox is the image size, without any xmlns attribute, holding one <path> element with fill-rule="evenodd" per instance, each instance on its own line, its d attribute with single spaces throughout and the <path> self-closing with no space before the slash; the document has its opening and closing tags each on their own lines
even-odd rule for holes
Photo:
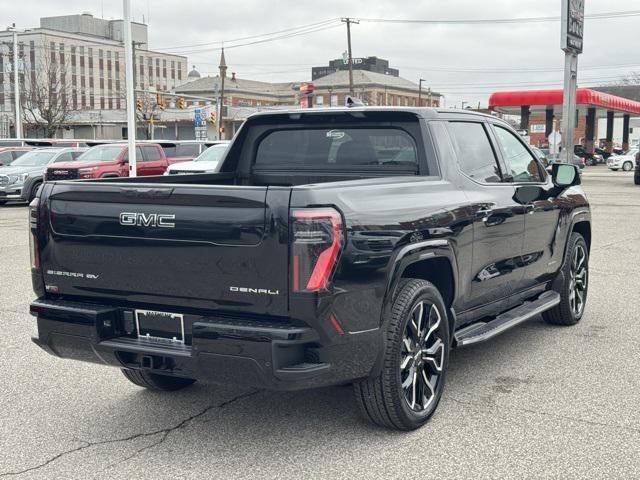
<svg viewBox="0 0 640 480">
<path fill-rule="evenodd" d="M 42 128 L 47 138 L 53 137 L 72 113 L 69 70 L 68 60 L 46 52 L 28 72 L 31 78 L 22 92 L 22 116 L 27 126 Z"/>
</svg>

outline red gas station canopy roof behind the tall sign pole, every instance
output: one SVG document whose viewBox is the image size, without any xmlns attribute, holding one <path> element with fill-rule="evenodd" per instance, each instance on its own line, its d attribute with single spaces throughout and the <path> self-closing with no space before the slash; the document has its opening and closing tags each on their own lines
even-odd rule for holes
<svg viewBox="0 0 640 480">
<path fill-rule="evenodd" d="M 533 115 L 544 114 L 548 109 L 561 115 L 562 89 L 494 92 L 489 97 L 489 108 L 500 113 L 520 115 L 523 106 L 528 106 Z M 576 107 L 580 112 L 594 108 L 596 117 L 606 117 L 607 111 L 640 116 L 640 102 L 590 88 L 577 89 Z"/>
</svg>

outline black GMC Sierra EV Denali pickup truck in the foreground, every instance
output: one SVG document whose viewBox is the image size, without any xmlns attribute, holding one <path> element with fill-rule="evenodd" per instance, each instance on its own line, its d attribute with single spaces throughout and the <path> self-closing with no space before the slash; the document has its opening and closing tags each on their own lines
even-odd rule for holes
<svg viewBox="0 0 640 480">
<path fill-rule="evenodd" d="M 250 117 L 213 174 L 47 182 L 33 341 L 176 390 L 353 384 L 422 425 L 449 351 L 587 298 L 589 204 L 505 122 L 426 108 Z M 53 368 L 53 366 L 52 366 Z"/>
</svg>

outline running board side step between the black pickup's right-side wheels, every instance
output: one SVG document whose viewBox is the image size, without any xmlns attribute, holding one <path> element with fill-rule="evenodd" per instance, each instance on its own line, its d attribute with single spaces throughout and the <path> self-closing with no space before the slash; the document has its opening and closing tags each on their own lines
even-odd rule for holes
<svg viewBox="0 0 640 480">
<path fill-rule="evenodd" d="M 458 330 L 454 339 L 456 346 L 465 347 L 484 342 L 516 325 L 526 322 L 536 315 L 555 307 L 560 303 L 560 294 L 547 291 L 537 299 L 501 313 L 490 322 L 477 322 Z"/>
</svg>

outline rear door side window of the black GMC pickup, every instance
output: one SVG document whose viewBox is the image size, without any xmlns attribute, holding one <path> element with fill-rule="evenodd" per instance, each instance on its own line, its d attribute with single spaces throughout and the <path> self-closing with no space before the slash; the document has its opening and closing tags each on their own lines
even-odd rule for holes
<svg viewBox="0 0 640 480">
<path fill-rule="evenodd" d="M 500 167 L 481 123 L 449 124 L 460 169 L 478 182 L 500 183 Z"/>
</svg>

